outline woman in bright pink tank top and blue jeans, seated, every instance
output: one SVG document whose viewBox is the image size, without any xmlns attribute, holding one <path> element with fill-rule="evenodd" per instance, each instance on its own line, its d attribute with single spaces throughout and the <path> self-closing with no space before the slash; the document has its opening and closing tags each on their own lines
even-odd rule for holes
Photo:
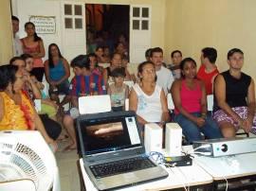
<svg viewBox="0 0 256 191">
<path fill-rule="evenodd" d="M 175 80 L 171 89 L 174 99 L 174 121 L 183 130 L 188 143 L 202 139 L 220 138 L 217 124 L 207 116 L 207 98 L 204 83 L 196 78 L 196 62 L 186 58 L 180 63 L 181 79 Z"/>
</svg>

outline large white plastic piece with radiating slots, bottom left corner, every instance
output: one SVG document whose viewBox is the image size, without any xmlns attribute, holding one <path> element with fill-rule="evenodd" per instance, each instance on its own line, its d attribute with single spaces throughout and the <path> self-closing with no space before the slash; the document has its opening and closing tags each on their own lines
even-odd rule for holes
<svg viewBox="0 0 256 191">
<path fill-rule="evenodd" d="M 31 180 L 37 191 L 61 190 L 55 157 L 39 131 L 1 131 L 0 182 L 22 179 Z M 22 184 L 21 182 L 19 185 Z M 0 184 L 0 190 L 3 190 L 6 185 Z M 13 183 L 9 183 L 9 186 L 12 185 Z"/>
</svg>

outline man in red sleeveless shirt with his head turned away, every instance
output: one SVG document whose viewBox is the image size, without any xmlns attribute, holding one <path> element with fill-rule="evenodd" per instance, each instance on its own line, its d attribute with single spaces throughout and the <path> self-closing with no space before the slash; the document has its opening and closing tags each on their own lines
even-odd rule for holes
<svg viewBox="0 0 256 191">
<path fill-rule="evenodd" d="M 213 47 L 205 47 L 201 53 L 201 66 L 197 72 L 197 78 L 205 82 L 207 95 L 212 95 L 214 78 L 219 74 L 215 61 L 217 50 Z"/>
</svg>

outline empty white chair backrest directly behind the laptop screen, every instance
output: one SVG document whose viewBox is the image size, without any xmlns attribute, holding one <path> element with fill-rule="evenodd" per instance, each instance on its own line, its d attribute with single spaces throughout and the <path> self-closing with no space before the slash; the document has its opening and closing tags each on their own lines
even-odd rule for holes
<svg viewBox="0 0 256 191">
<path fill-rule="evenodd" d="M 106 113 L 111 111 L 109 95 L 79 97 L 79 113 Z"/>
</svg>

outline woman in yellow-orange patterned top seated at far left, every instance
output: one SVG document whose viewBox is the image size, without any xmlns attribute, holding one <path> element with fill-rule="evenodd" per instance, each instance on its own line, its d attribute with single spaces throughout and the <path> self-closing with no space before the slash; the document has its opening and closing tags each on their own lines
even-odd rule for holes
<svg viewBox="0 0 256 191">
<path fill-rule="evenodd" d="M 57 149 L 23 86 L 22 70 L 15 65 L 0 66 L 0 130 L 39 130 L 46 143 Z"/>
</svg>

